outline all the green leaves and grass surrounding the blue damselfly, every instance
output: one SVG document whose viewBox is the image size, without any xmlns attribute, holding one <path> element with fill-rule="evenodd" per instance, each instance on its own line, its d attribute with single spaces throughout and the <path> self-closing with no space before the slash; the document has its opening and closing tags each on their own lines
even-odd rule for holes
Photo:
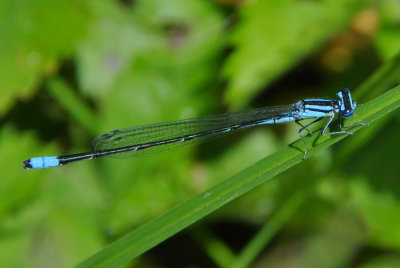
<svg viewBox="0 0 400 268">
<path fill-rule="evenodd" d="M 374 99 L 399 84 L 399 53 L 398 0 L 0 1 L 0 266 L 400 266 L 399 116 L 381 117 L 399 88 Z M 306 161 L 288 124 L 22 169 L 112 129 L 340 87 L 368 103 L 356 118 L 381 118 Z"/>
</svg>

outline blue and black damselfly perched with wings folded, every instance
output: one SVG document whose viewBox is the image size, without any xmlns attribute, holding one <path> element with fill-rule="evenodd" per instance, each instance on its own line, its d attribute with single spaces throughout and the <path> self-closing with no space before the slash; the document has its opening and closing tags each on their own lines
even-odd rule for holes
<svg viewBox="0 0 400 268">
<path fill-rule="evenodd" d="M 340 89 L 337 92 L 337 97 L 336 100 L 307 99 L 286 106 L 258 108 L 243 112 L 117 129 L 95 138 L 91 152 L 34 157 L 23 161 L 23 166 L 25 169 L 42 169 L 104 156 L 129 158 L 154 155 L 239 129 L 291 121 L 300 125 L 298 134 L 305 146 L 303 156 L 303 159 L 305 159 L 308 146 L 302 132 L 307 130 L 311 133 L 308 127 L 321 119 L 328 118 L 320 132 L 321 135 L 352 134 L 344 130 L 342 119 L 351 117 L 357 108 L 357 104 L 352 99 L 350 90 L 346 88 Z M 326 133 L 326 129 L 336 114 L 339 117 L 340 131 Z M 305 119 L 315 120 L 307 125 L 302 125 L 300 121 Z M 355 125 L 365 124 L 359 122 L 349 127 Z"/>
</svg>

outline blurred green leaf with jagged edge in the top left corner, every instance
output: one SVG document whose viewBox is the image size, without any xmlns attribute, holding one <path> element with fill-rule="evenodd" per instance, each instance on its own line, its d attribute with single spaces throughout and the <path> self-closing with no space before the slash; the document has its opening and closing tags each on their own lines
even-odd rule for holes
<svg viewBox="0 0 400 268">
<path fill-rule="evenodd" d="M 0 1 L 0 113 L 16 96 L 28 97 L 43 75 L 56 71 L 84 34 L 81 1 Z"/>
</svg>

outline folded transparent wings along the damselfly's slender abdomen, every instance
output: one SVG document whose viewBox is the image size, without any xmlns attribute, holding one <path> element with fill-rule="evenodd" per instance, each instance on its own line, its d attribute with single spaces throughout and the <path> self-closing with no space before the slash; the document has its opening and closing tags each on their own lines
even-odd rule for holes
<svg viewBox="0 0 400 268">
<path fill-rule="evenodd" d="M 223 133 L 265 124 L 263 121 L 292 112 L 292 106 L 259 108 L 180 121 L 117 129 L 93 140 L 94 152 L 129 150 L 107 155 L 130 158 L 155 155 L 188 144 L 215 138 Z"/>
</svg>

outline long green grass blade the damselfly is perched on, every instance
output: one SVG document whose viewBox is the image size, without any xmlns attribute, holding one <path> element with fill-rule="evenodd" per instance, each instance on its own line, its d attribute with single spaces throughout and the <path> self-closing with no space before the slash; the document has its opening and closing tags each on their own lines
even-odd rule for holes
<svg viewBox="0 0 400 268">
<path fill-rule="evenodd" d="M 358 121 L 372 123 L 400 106 L 400 86 L 380 95 L 359 107 L 346 125 Z M 350 129 L 358 131 L 361 126 Z M 309 145 L 315 144 L 308 157 L 344 139 L 347 135 L 331 137 L 319 133 L 306 137 Z M 89 257 L 77 267 L 119 267 L 146 252 L 155 245 L 197 222 L 223 205 L 247 193 L 258 185 L 269 181 L 288 168 L 302 162 L 303 143 L 297 140 L 282 150 L 249 166 L 238 174 L 220 182 L 207 191 L 171 209 L 164 215 L 142 225 L 133 232 L 113 242 L 103 250 Z"/>
</svg>

